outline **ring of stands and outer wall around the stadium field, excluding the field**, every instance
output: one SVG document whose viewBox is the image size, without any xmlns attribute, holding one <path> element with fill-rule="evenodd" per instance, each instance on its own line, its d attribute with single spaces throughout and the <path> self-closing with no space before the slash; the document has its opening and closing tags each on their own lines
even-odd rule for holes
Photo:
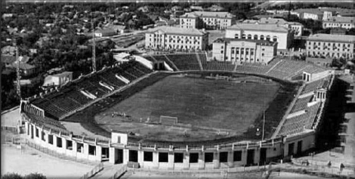
<svg viewBox="0 0 355 179">
<path fill-rule="evenodd" d="M 244 72 L 279 79 L 291 79 L 302 72 L 313 74 L 297 91 L 272 137 L 262 141 L 230 141 L 217 145 L 145 144 L 132 142 L 127 133 L 114 131 L 110 138 L 80 136 L 73 134 L 75 131 L 68 131 L 60 123 L 67 116 L 157 73 L 153 71 L 156 58 L 135 56 L 134 61 L 102 69 L 40 96 L 22 100 L 20 112 L 28 144 L 36 144 L 77 160 L 133 162 L 140 167 L 159 169 L 210 169 L 264 164 L 287 159 L 315 147 L 317 131 L 320 130 L 319 125 L 328 103 L 327 94 L 335 79 L 334 73 L 304 62 L 283 59 L 274 59 L 263 66 L 232 65 L 233 68 L 230 68 L 228 65 L 206 61 L 204 54 L 164 56 L 165 64 L 172 66 L 170 70 L 180 72 Z M 179 59 L 190 59 L 191 63 L 182 63 Z M 193 61 L 198 65 L 190 65 Z M 284 65 L 290 69 L 285 69 Z M 322 77 L 312 79 L 317 75 Z"/>
</svg>

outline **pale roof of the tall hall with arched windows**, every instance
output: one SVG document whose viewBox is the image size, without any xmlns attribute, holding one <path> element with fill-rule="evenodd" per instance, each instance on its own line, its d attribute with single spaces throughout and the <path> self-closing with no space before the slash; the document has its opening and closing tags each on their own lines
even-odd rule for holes
<svg viewBox="0 0 355 179">
<path fill-rule="evenodd" d="M 235 30 L 259 30 L 259 31 L 273 31 L 273 32 L 288 32 L 286 27 L 279 26 L 279 24 L 249 24 L 249 23 L 238 23 L 227 29 Z"/>
</svg>

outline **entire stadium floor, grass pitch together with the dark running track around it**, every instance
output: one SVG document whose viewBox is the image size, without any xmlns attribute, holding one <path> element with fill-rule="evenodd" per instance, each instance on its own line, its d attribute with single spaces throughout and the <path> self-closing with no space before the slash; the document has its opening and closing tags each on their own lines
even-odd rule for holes
<svg viewBox="0 0 355 179">
<path fill-rule="evenodd" d="M 105 137 L 110 137 L 111 129 L 133 132 L 135 135 L 129 136 L 130 141 L 147 143 L 183 145 L 189 142 L 192 145 L 206 141 L 212 144 L 260 140 L 261 135 L 256 136 L 256 128 L 262 128 L 265 101 L 265 137 L 270 137 L 293 99 L 295 85 L 252 75 L 233 76 L 236 81 L 257 79 L 264 82 L 237 83 L 156 73 L 65 121 L 80 122 L 85 129 Z M 112 116 L 114 113 L 126 113 L 131 119 Z M 178 117 L 179 123 L 185 126 L 144 123 L 148 117 L 150 121 L 158 121 L 161 115 Z M 229 133 L 218 135 L 220 129 Z"/>
</svg>

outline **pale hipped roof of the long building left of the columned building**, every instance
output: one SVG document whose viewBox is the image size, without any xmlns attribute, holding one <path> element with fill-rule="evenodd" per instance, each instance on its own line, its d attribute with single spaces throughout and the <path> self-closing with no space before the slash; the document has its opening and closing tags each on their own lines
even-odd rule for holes
<svg viewBox="0 0 355 179">
<path fill-rule="evenodd" d="M 164 33 L 167 34 L 181 34 L 181 35 L 204 35 L 208 32 L 203 32 L 198 29 L 187 29 L 187 28 L 180 28 L 180 27 L 171 27 L 171 26 L 160 26 L 160 27 L 155 27 L 152 29 L 148 29 L 148 33 L 153 33 L 158 30 L 163 31 Z"/>
</svg>

